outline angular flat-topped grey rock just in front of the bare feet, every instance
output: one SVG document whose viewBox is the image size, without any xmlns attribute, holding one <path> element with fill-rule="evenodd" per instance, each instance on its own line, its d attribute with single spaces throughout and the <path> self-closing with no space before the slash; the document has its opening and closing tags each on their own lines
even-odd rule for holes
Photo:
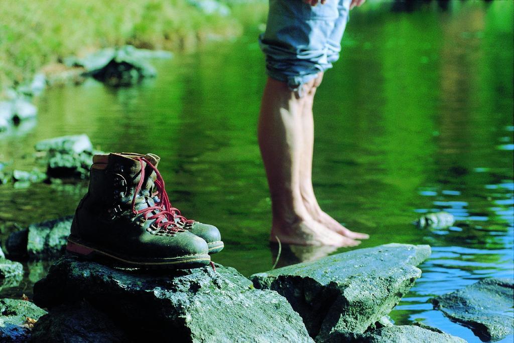
<svg viewBox="0 0 514 343">
<path fill-rule="evenodd" d="M 386 244 L 252 275 L 255 288 L 277 291 L 323 341 L 333 331 L 362 333 L 387 315 L 419 278 L 430 246 Z"/>
</svg>

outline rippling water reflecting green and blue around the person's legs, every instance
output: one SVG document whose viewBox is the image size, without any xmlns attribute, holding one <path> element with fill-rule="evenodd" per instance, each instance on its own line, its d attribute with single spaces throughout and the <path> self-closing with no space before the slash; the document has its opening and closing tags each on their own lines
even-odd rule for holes
<svg viewBox="0 0 514 343">
<path fill-rule="evenodd" d="M 397 324 L 423 321 L 473 342 L 429 299 L 514 274 L 512 6 L 464 4 L 352 15 L 341 59 L 317 94 L 314 184 L 327 213 L 371 235 L 360 247 L 432 246 L 423 275 L 391 313 Z M 270 269 L 276 247 L 267 241 L 270 201 L 255 135 L 265 82 L 256 33 L 153 63 L 158 77 L 136 87 L 90 80 L 46 90 L 35 126 L 0 136 L 0 160 L 30 169 L 35 142 L 82 133 L 105 151 L 157 154 L 173 204 L 221 229 L 226 247 L 213 259 L 247 276 Z M 2 237 L 14 221 L 72 214 L 84 186 L 1 186 Z M 455 226 L 411 224 L 439 210 L 454 214 Z M 279 265 L 326 253 L 284 247 Z M 30 296 L 47 267 L 29 265 L 2 297 Z"/>
</svg>

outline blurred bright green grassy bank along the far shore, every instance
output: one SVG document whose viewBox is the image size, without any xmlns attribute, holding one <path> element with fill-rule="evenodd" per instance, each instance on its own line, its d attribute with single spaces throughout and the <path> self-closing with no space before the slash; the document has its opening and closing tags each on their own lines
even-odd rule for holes
<svg viewBox="0 0 514 343">
<path fill-rule="evenodd" d="M 68 55 L 124 44 L 188 50 L 266 16 L 267 1 L 221 3 L 228 15 L 185 0 L 0 0 L 0 90 Z"/>
</svg>

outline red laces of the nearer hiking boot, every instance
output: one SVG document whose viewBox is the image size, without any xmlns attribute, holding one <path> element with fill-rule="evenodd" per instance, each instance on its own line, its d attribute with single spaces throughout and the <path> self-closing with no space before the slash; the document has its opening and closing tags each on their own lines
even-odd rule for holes
<svg viewBox="0 0 514 343">
<path fill-rule="evenodd" d="M 181 232 L 185 231 L 182 227 L 177 225 L 175 223 L 175 218 L 178 218 L 180 222 L 186 226 L 186 224 L 192 224 L 194 223 L 194 220 L 187 219 L 186 217 L 182 216 L 180 214 L 180 211 L 178 208 L 172 207 L 170 199 L 168 198 L 168 194 L 166 193 L 166 188 L 164 188 L 164 180 L 162 179 L 162 176 L 159 173 L 159 170 L 148 160 L 145 158 L 139 158 L 139 163 L 141 164 L 141 177 L 139 179 L 139 182 L 136 186 L 136 190 L 134 193 L 134 198 L 132 199 L 132 212 L 136 215 L 142 214 L 146 220 L 149 219 L 155 219 L 155 223 L 153 224 L 161 231 L 170 231 L 170 232 Z M 143 209 L 140 209 L 139 211 L 136 210 L 136 196 L 141 191 L 141 187 L 144 182 L 144 164 L 150 166 L 152 170 L 154 170 L 155 174 L 157 175 L 154 184 L 157 188 L 157 192 L 152 194 L 152 197 L 157 196 L 159 198 L 159 201 L 155 203 L 154 206 L 146 207 Z M 152 216 L 147 217 L 148 213 L 152 213 L 153 211 L 156 211 L 156 214 L 153 214 Z M 164 221 L 164 219 L 167 219 L 167 221 Z"/>
</svg>

